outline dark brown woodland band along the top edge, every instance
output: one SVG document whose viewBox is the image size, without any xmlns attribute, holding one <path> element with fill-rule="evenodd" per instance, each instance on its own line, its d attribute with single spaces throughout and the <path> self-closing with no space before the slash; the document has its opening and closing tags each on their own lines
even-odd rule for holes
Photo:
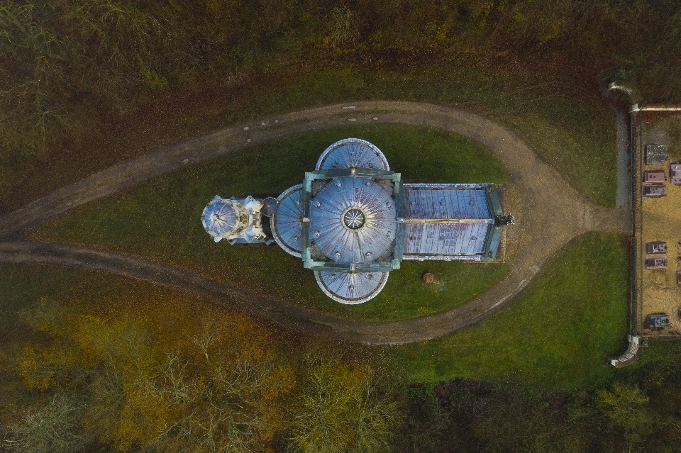
<svg viewBox="0 0 681 453">
<path fill-rule="evenodd" d="M 4 0 L 0 150 L 17 167 L 92 127 L 94 111 L 186 84 L 548 55 L 681 102 L 675 1 Z"/>
</svg>

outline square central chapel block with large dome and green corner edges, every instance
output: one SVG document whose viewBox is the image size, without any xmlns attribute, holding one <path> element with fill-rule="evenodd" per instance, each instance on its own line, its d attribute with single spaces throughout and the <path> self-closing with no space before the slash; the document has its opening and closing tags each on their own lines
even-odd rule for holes
<svg viewBox="0 0 681 453">
<path fill-rule="evenodd" d="M 336 272 L 399 269 L 401 191 L 400 174 L 388 170 L 307 172 L 301 192 L 303 266 Z"/>
</svg>

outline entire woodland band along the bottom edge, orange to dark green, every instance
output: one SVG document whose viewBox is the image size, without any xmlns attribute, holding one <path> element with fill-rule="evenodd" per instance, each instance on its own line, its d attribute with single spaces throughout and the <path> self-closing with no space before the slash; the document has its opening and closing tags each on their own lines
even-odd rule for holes
<svg viewBox="0 0 681 453">
<path fill-rule="evenodd" d="M 588 391 L 464 379 L 416 385 L 352 345 L 294 340 L 209 305 L 194 316 L 181 301 L 168 305 L 177 311 L 138 300 L 76 317 L 43 298 L 21 311 L 27 333 L 6 341 L 0 357 L 0 450 L 681 448 L 678 347 L 662 366 L 634 367 Z"/>
</svg>

